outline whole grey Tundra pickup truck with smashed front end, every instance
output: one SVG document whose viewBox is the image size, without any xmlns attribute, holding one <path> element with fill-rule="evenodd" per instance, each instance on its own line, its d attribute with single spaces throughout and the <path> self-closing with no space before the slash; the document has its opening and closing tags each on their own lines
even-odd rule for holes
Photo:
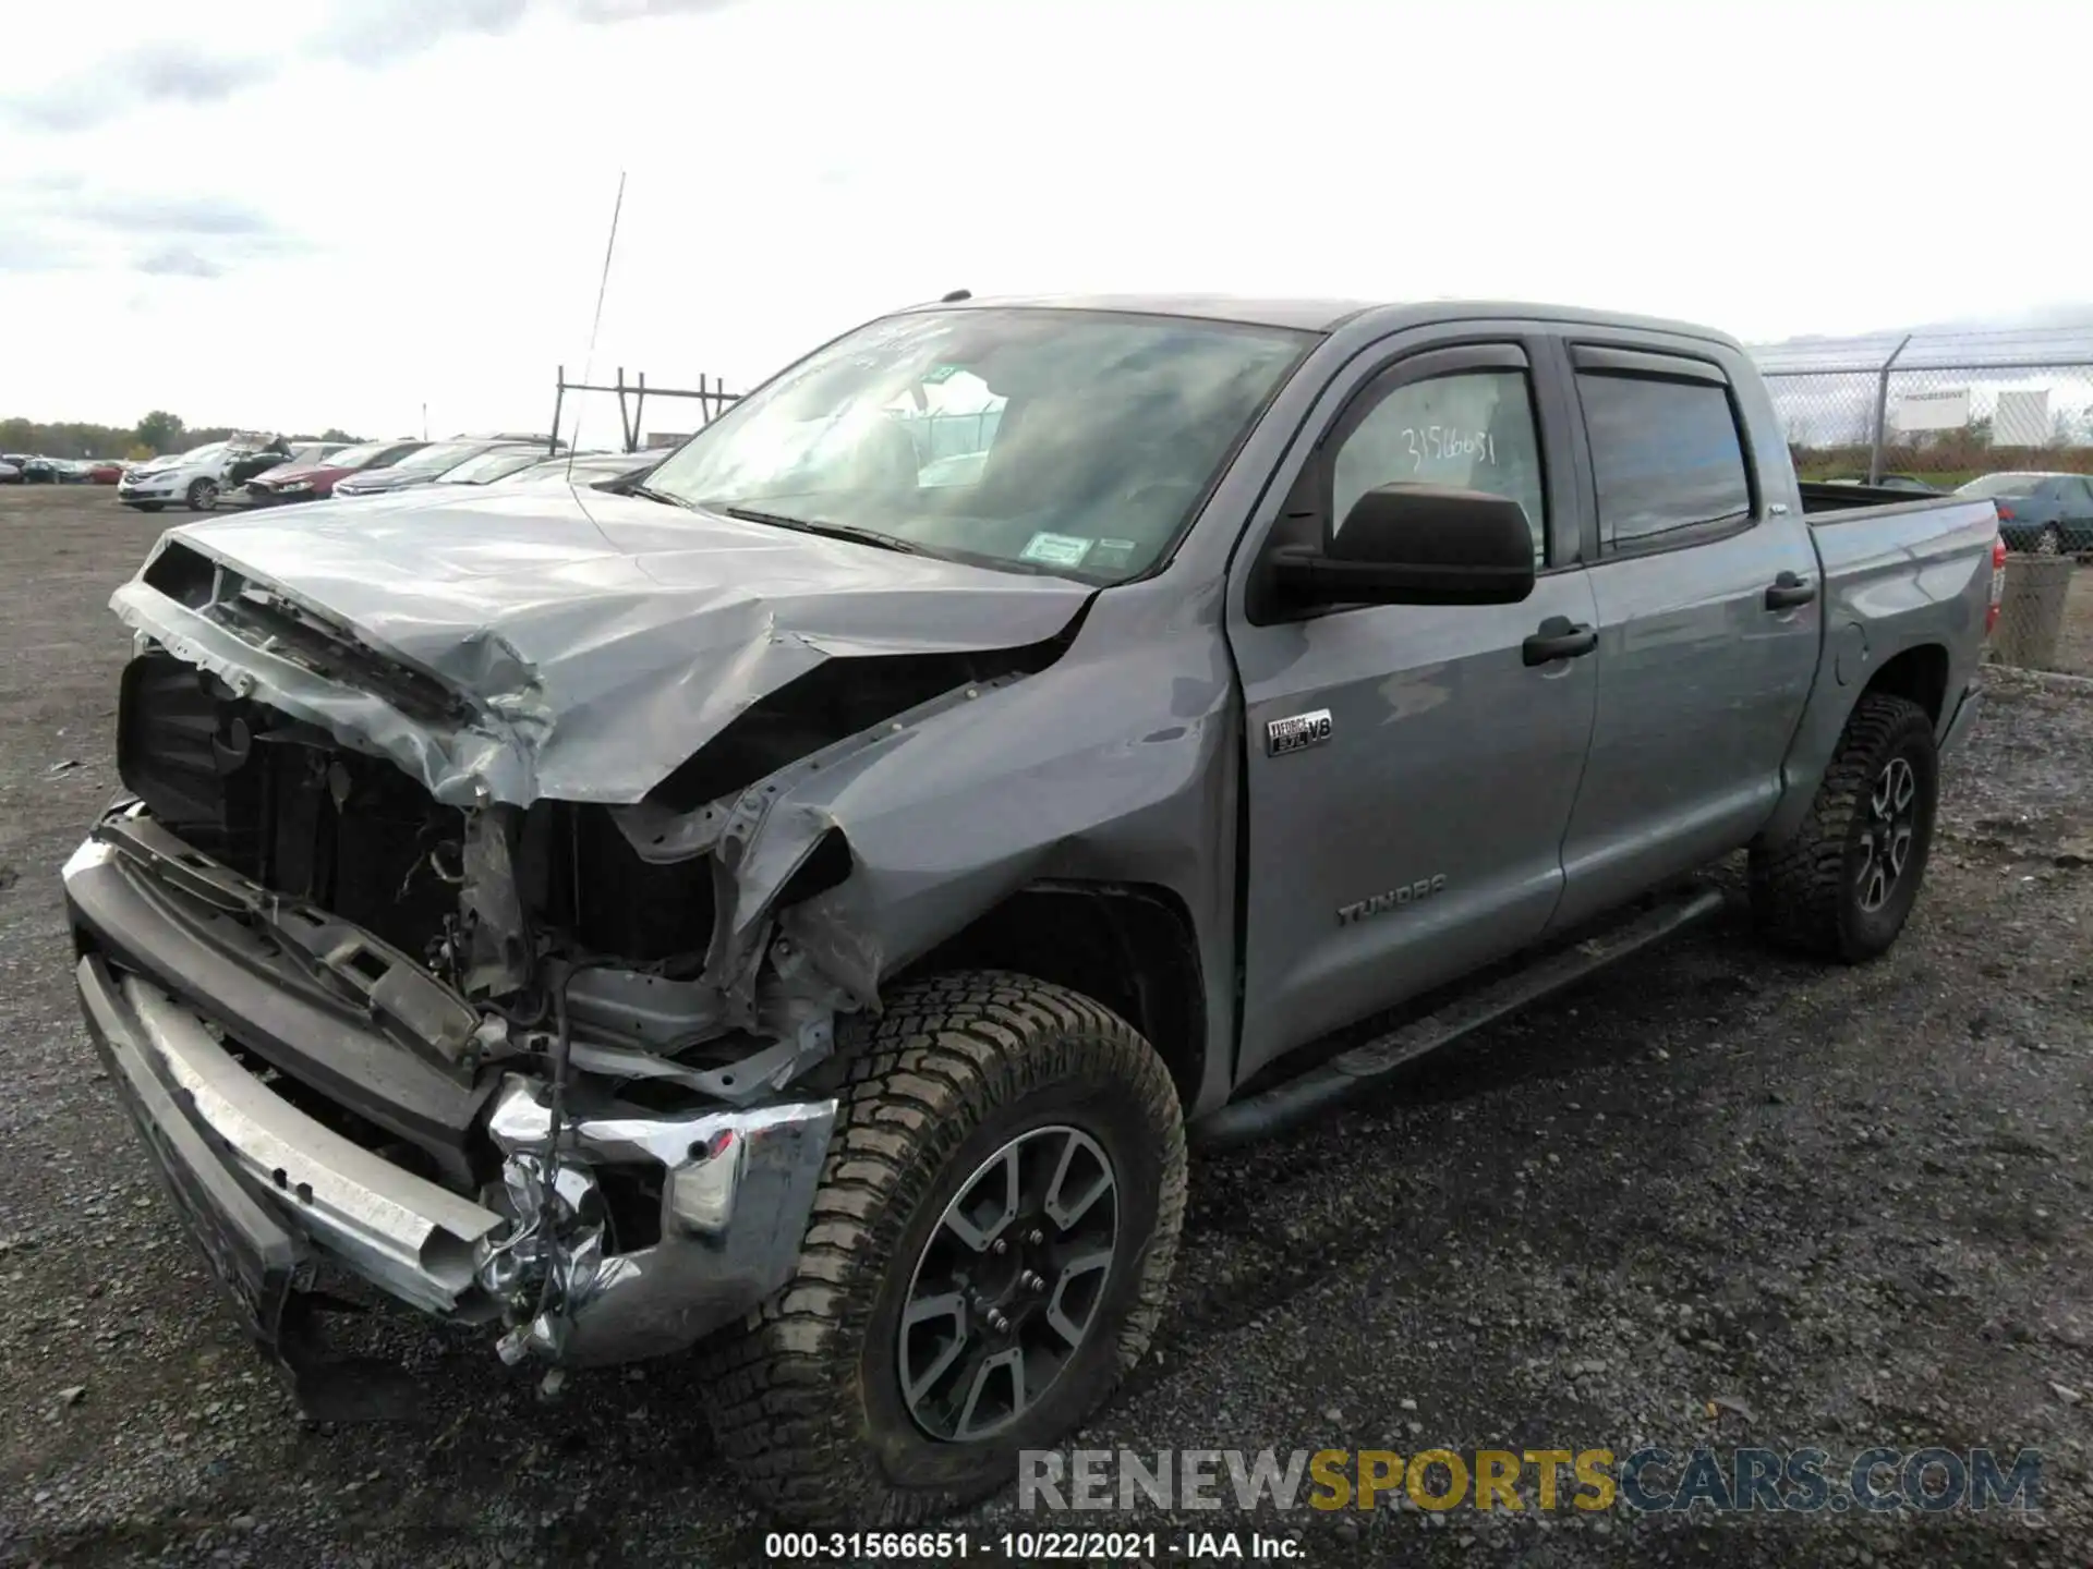
<svg viewBox="0 0 2093 1569">
<path fill-rule="evenodd" d="M 1189 1138 L 1737 849 L 1888 948 L 1999 563 L 1990 502 L 1798 485 L 1702 328 L 908 310 L 622 494 L 170 531 L 80 996 L 310 1410 L 373 1389 L 324 1266 L 546 1377 L 701 1356 L 774 1513 L 923 1519 L 1141 1358 Z"/>
</svg>

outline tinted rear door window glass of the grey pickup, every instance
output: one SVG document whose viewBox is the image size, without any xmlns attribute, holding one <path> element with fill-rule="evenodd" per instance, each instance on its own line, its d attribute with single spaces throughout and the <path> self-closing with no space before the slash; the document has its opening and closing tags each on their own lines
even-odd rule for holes
<svg viewBox="0 0 2093 1569">
<path fill-rule="evenodd" d="M 1578 402 L 1605 550 L 1752 515 L 1752 479 L 1729 389 L 1716 381 L 1580 368 Z"/>
</svg>

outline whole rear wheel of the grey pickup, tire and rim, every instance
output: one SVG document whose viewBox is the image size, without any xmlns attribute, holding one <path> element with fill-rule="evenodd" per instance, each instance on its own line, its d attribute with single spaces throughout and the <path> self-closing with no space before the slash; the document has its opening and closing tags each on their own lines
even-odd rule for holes
<svg viewBox="0 0 2093 1569">
<path fill-rule="evenodd" d="M 1752 912 L 1792 948 L 1856 962 L 1905 929 L 1926 881 L 1940 797 L 1934 722 L 1875 692 L 1846 720 L 1802 828 L 1752 849 Z"/>
</svg>

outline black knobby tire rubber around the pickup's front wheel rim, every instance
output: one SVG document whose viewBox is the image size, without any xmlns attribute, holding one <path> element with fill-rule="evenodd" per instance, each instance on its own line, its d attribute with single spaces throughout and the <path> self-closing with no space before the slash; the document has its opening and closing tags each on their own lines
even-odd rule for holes
<svg viewBox="0 0 2093 1569">
<path fill-rule="evenodd" d="M 908 985 L 850 1052 L 793 1278 L 703 1349 L 712 1429 L 758 1502 L 795 1525 L 913 1525 L 1007 1485 L 1147 1351 L 1185 1220 L 1185 1123 L 1132 1025 L 1028 975 Z M 1111 1157 L 1120 1232 L 1088 1333 L 1005 1431 L 940 1443 L 910 1418 L 896 1333 L 917 1259 L 980 1161 L 1070 1123 Z"/>
</svg>

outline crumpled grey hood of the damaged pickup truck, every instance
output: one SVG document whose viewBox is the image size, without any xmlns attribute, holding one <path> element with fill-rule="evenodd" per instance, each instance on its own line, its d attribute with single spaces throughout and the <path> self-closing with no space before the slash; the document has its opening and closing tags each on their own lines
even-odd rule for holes
<svg viewBox="0 0 2093 1569">
<path fill-rule="evenodd" d="M 312 611 L 297 659 L 224 615 L 174 552 Z M 224 600 L 234 592 L 218 590 Z M 634 803 L 749 703 L 827 659 L 1017 649 L 1090 588 L 588 492 L 408 490 L 170 529 L 111 600 L 170 653 L 393 757 L 452 805 Z M 410 718 L 358 646 L 433 676 L 473 718 Z M 345 659 L 329 653 L 339 649 Z"/>
</svg>

